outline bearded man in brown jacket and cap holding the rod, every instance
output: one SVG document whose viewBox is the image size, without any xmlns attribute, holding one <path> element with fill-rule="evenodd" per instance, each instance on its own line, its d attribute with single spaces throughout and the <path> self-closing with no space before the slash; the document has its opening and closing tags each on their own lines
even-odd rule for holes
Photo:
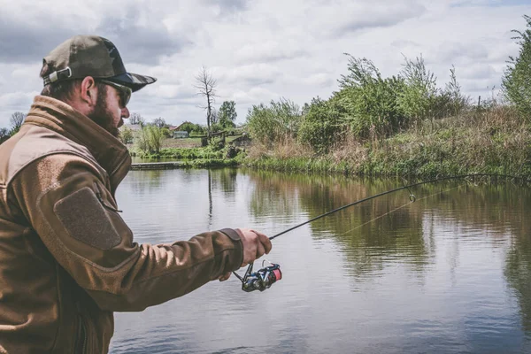
<svg viewBox="0 0 531 354">
<path fill-rule="evenodd" d="M 75 36 L 43 59 L 42 95 L 0 145 L 0 353 L 107 352 L 115 311 L 182 296 L 271 250 L 247 228 L 137 244 L 114 193 L 132 92 L 112 42 Z M 228 299 L 227 299 L 228 301 Z"/>
</svg>

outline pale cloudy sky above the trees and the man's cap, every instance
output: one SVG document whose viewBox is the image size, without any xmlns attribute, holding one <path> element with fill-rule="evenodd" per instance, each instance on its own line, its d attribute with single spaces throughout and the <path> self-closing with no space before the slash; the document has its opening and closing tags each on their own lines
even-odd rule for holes
<svg viewBox="0 0 531 354">
<path fill-rule="evenodd" d="M 130 112 L 150 121 L 206 124 L 195 77 L 217 81 L 215 107 L 328 98 L 347 73 L 349 53 L 384 77 L 422 55 L 444 88 L 455 66 L 463 93 L 498 94 L 519 46 L 531 0 L 0 0 L 0 127 L 27 113 L 42 89 L 42 58 L 73 35 L 101 35 L 127 71 L 158 78 L 136 92 Z"/>
</svg>

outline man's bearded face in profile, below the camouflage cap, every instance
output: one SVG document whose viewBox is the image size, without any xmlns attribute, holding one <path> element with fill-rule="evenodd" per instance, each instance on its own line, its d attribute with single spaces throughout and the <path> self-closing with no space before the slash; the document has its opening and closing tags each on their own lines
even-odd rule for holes
<svg viewBox="0 0 531 354">
<path fill-rule="evenodd" d="M 98 85 L 96 106 L 88 117 L 100 127 L 118 137 L 118 128 L 124 124 L 123 118 L 127 119 L 129 117 L 129 110 L 127 110 L 127 107 L 122 106 L 117 89 L 101 84 Z"/>
</svg>

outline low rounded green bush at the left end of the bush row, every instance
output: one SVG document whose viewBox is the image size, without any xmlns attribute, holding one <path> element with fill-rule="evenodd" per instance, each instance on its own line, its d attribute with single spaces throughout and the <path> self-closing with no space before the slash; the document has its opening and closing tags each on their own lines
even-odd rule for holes
<svg viewBox="0 0 531 354">
<path fill-rule="evenodd" d="M 298 105 L 281 98 L 279 102 L 253 104 L 247 113 L 250 135 L 258 142 L 273 144 L 286 137 L 296 137 L 301 122 Z"/>
</svg>

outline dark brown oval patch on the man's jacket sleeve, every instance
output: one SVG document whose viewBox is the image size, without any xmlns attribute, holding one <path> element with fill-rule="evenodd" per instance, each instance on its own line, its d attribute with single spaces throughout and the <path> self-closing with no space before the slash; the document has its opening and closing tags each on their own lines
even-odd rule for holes
<svg viewBox="0 0 531 354">
<path fill-rule="evenodd" d="M 59 200 L 53 210 L 65 230 L 78 241 L 100 250 L 111 250 L 121 242 L 108 212 L 89 187 Z"/>
</svg>

